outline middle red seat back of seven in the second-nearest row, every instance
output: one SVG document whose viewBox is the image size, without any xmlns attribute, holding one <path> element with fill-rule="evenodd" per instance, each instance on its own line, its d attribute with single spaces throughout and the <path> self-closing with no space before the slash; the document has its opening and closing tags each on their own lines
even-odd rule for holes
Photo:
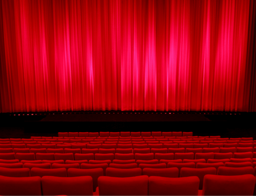
<svg viewBox="0 0 256 196">
<path fill-rule="evenodd" d="M 108 167 L 106 169 L 106 176 L 108 177 L 119 177 L 119 178 L 137 177 L 137 176 L 140 176 L 141 173 L 142 173 L 142 170 L 140 168 L 120 169 L 120 168 Z"/>
</svg>

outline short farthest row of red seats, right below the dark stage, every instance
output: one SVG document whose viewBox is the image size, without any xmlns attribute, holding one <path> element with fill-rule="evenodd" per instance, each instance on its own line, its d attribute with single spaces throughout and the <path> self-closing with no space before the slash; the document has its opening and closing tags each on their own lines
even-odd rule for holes
<svg viewBox="0 0 256 196">
<path fill-rule="evenodd" d="M 182 132 L 182 131 L 121 131 L 121 132 L 59 132 L 59 137 L 139 137 L 139 136 L 193 136 L 193 132 Z"/>
</svg>

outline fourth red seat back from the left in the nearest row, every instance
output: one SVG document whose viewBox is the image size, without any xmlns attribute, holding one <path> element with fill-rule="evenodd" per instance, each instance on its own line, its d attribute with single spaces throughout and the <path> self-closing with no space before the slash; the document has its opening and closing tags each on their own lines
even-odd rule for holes
<svg viewBox="0 0 256 196">
<path fill-rule="evenodd" d="M 149 177 L 149 195 L 197 195 L 198 177 Z"/>
</svg>

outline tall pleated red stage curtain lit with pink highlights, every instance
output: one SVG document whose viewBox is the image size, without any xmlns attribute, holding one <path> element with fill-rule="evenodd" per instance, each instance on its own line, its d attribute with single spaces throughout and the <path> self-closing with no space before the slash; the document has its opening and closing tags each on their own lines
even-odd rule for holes
<svg viewBox="0 0 256 196">
<path fill-rule="evenodd" d="M 0 112 L 256 111 L 253 0 L 0 0 Z"/>
</svg>

